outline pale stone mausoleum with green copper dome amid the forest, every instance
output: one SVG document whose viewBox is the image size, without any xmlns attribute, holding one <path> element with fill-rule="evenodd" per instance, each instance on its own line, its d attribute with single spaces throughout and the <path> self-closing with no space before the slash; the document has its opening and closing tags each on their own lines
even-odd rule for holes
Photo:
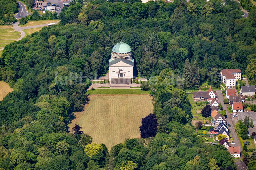
<svg viewBox="0 0 256 170">
<path fill-rule="evenodd" d="M 130 46 L 124 42 L 114 45 L 111 58 L 109 59 L 110 83 L 131 84 L 133 79 L 133 66 L 134 59 L 132 58 L 132 50 Z"/>
</svg>

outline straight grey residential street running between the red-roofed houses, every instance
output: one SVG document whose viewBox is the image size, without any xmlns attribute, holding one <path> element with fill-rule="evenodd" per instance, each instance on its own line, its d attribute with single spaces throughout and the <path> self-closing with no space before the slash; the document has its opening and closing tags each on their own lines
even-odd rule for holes
<svg viewBox="0 0 256 170">
<path fill-rule="evenodd" d="M 230 127 L 229 129 L 230 129 L 230 132 L 231 132 L 233 141 L 236 143 L 236 144 L 234 144 L 234 145 L 232 145 L 232 146 L 239 146 L 239 147 L 240 147 L 240 151 L 242 151 L 243 148 L 242 148 L 242 145 L 241 145 L 241 143 L 240 143 L 240 141 L 239 141 L 239 138 L 238 138 L 238 136 L 237 136 L 237 133 L 235 132 L 235 125 L 234 125 L 234 123 L 233 123 L 233 121 L 232 121 L 232 116 L 230 116 L 230 114 L 229 114 L 229 112 L 228 112 L 227 105 L 224 104 L 224 102 L 223 102 L 224 97 L 223 97 L 223 95 L 222 95 L 222 90 L 216 90 L 216 94 L 217 94 L 218 100 L 219 100 L 219 102 L 221 103 L 223 109 L 226 110 L 226 115 L 227 115 L 226 120 L 227 120 L 227 122 L 229 122 L 230 125 L 231 125 L 231 127 Z"/>
</svg>

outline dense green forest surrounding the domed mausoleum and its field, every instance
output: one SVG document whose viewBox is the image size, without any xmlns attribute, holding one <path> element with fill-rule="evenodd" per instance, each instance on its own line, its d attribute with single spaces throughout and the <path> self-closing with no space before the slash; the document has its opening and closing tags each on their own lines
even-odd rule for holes
<svg viewBox="0 0 256 170">
<path fill-rule="evenodd" d="M 235 169 L 222 146 L 204 144 L 196 134 L 182 89 L 205 81 L 218 86 L 219 69 L 227 68 L 241 69 L 255 83 L 256 10 L 243 18 L 229 0 L 70 4 L 58 25 L 2 53 L 0 80 L 14 91 L 0 103 L 0 169 Z M 131 46 L 142 76 L 156 76 L 151 95 L 159 128 L 155 137 L 128 139 L 108 151 L 90 144 L 89 135 L 69 133 L 66 123 L 88 102 L 86 76 L 107 72 L 111 47 L 120 41 Z M 191 66 L 196 70 L 188 72 Z M 76 83 L 79 75 L 83 83 Z M 180 86 L 179 75 L 200 82 Z"/>
</svg>

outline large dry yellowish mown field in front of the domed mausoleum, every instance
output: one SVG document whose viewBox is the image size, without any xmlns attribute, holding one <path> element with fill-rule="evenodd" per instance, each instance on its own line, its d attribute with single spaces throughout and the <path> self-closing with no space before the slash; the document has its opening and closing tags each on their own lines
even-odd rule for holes
<svg viewBox="0 0 256 170">
<path fill-rule="evenodd" d="M 139 138 L 141 119 L 153 113 L 151 97 L 146 94 L 90 95 L 89 98 L 85 110 L 74 113 L 76 118 L 69 128 L 79 124 L 84 133 L 93 137 L 93 143 L 104 143 L 109 150 L 125 139 Z"/>
</svg>

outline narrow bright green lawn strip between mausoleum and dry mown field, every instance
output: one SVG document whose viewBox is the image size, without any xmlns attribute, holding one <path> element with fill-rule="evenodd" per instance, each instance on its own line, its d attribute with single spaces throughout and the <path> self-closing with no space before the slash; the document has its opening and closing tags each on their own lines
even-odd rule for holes
<svg viewBox="0 0 256 170">
<path fill-rule="evenodd" d="M 143 91 L 141 89 L 95 89 L 88 90 L 87 94 L 149 94 L 149 91 Z"/>
</svg>

